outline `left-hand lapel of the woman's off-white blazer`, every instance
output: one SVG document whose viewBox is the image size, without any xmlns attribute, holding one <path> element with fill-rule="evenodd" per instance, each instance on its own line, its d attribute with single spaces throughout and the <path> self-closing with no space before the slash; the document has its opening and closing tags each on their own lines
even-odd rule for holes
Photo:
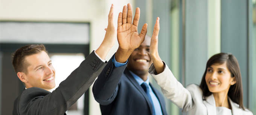
<svg viewBox="0 0 256 115">
<path fill-rule="evenodd" d="M 213 94 L 205 98 L 206 100 L 204 100 L 203 103 L 207 108 L 207 115 L 216 115 L 216 104 Z"/>
</svg>

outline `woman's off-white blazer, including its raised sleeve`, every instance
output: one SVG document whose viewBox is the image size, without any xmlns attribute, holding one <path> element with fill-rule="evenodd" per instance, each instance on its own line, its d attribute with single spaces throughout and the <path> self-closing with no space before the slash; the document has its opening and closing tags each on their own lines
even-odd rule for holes
<svg viewBox="0 0 256 115">
<path fill-rule="evenodd" d="M 163 94 L 177 105 L 184 115 L 216 115 L 216 105 L 213 94 L 203 99 L 203 91 L 195 84 L 190 84 L 187 88 L 176 80 L 171 70 L 165 64 L 162 73 L 156 75 L 155 67 L 152 64 L 149 74 L 161 87 Z M 249 110 L 239 108 L 239 105 L 229 98 L 232 106 L 232 115 L 253 115 Z M 223 113 L 224 114 L 224 113 Z"/>
</svg>

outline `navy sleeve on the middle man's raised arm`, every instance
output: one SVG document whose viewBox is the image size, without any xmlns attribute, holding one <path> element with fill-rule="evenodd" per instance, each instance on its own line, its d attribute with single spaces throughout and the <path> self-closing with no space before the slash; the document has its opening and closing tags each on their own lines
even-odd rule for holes
<svg viewBox="0 0 256 115">
<path fill-rule="evenodd" d="M 116 98 L 119 88 L 118 84 L 127 65 L 114 66 L 113 57 L 114 55 L 93 84 L 94 99 L 101 105 L 109 105 Z"/>
</svg>

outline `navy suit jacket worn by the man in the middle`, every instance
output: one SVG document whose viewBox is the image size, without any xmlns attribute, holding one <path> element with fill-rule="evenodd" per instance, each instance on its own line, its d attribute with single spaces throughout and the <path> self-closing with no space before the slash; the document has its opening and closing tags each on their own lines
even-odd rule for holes
<svg viewBox="0 0 256 115">
<path fill-rule="evenodd" d="M 115 67 L 112 58 L 93 85 L 93 95 L 100 103 L 102 115 L 152 115 L 152 104 L 143 88 L 126 65 Z M 162 94 L 149 85 L 160 102 L 163 115 L 167 115 Z"/>
</svg>

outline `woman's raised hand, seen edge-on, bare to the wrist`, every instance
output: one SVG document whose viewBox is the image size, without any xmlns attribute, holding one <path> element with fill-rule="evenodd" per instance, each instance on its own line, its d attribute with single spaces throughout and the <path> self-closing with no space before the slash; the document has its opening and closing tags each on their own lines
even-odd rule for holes
<svg viewBox="0 0 256 115">
<path fill-rule="evenodd" d="M 154 31 L 153 31 L 153 35 L 151 37 L 150 48 L 149 48 L 149 52 L 150 52 L 151 58 L 153 60 L 153 63 L 155 66 L 155 71 L 157 72 L 157 74 L 162 73 L 165 68 L 164 64 L 158 54 L 158 33 L 160 30 L 159 20 L 160 20 L 160 18 L 157 17 L 157 21 L 155 22 Z"/>
</svg>

